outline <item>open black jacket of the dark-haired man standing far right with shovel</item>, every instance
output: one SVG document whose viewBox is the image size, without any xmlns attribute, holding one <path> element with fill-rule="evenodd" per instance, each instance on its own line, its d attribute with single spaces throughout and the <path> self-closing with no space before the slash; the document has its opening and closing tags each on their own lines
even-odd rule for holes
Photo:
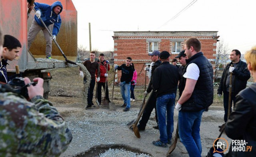
<svg viewBox="0 0 256 157">
<path fill-rule="evenodd" d="M 226 90 L 226 80 L 231 64 L 232 62 L 227 64 L 224 68 L 222 77 L 220 79 L 220 86 L 218 87 L 218 94 L 222 94 L 222 92 Z M 232 88 L 234 88 L 234 95 L 236 95 L 239 93 L 239 91 L 246 88 L 247 80 L 250 78 L 250 72 L 247 70 L 247 64 L 240 60 L 237 68 L 235 68 L 232 73 L 232 75 L 234 75 L 234 82 L 232 82 Z"/>
</svg>

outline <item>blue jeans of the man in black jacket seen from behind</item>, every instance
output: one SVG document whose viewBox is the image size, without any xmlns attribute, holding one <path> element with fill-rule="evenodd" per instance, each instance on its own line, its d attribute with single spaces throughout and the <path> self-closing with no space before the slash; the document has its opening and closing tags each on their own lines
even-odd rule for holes
<svg viewBox="0 0 256 157">
<path fill-rule="evenodd" d="M 162 95 L 156 98 L 158 127 L 160 132 L 160 141 L 162 143 L 167 143 L 168 140 L 172 139 L 174 105 L 175 93 Z"/>
</svg>

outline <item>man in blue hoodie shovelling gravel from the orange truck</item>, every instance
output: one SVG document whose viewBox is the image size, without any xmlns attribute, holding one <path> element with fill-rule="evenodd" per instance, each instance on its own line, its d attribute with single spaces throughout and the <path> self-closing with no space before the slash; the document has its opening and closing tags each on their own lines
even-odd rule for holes
<svg viewBox="0 0 256 157">
<path fill-rule="evenodd" d="M 56 36 L 60 30 L 61 18 L 60 13 L 63 10 L 62 4 L 59 1 L 54 2 L 51 6 L 44 3 L 34 3 L 35 5 L 35 18 L 32 21 L 31 27 L 28 31 L 28 49 L 30 48 L 32 42 L 36 38 L 36 35 L 40 30 L 44 32 L 44 37 L 46 39 L 46 58 L 51 59 L 52 56 L 52 39 L 56 39 Z M 44 25 L 40 21 L 40 18 L 44 21 L 45 25 L 49 30 L 51 30 L 50 25 L 53 25 L 52 36 L 44 28 Z"/>
</svg>

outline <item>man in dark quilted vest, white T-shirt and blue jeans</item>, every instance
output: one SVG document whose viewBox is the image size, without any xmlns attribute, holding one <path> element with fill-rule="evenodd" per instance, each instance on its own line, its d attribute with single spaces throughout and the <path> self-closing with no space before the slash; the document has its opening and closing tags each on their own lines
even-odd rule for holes
<svg viewBox="0 0 256 157">
<path fill-rule="evenodd" d="M 179 135 L 188 155 L 201 157 L 200 123 L 203 111 L 213 101 L 213 69 L 197 38 L 188 38 L 184 50 L 188 56 L 183 75 L 185 87 L 175 107 L 179 111 Z"/>
</svg>

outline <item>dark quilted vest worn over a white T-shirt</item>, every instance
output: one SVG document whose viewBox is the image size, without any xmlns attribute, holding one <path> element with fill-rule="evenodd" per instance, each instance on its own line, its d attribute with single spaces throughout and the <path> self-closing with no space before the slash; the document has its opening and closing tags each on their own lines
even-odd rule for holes
<svg viewBox="0 0 256 157">
<path fill-rule="evenodd" d="M 194 56 L 186 60 L 187 65 L 194 63 L 200 70 L 199 78 L 191 97 L 182 104 L 182 111 L 200 111 L 209 107 L 213 101 L 213 69 L 209 60 L 204 57 L 202 52 L 196 53 Z M 186 78 L 184 83 L 186 84 Z"/>
</svg>

